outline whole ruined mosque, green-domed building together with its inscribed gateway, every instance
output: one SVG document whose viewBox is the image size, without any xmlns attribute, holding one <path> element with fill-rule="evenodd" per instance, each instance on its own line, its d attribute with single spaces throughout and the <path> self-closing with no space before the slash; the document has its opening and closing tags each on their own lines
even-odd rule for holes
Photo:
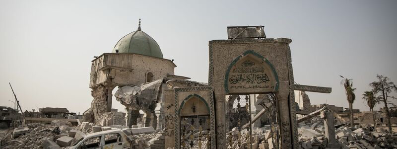
<svg viewBox="0 0 397 149">
<path fill-rule="evenodd" d="M 92 60 L 93 100 L 83 121 L 164 130 L 164 149 L 252 149 L 253 128 L 270 126 L 278 134 L 273 146 L 298 149 L 294 90 L 331 92 L 295 84 L 292 40 L 266 38 L 264 26 L 230 26 L 226 40 L 209 41 L 207 83 L 176 75 L 173 60 L 142 28 L 139 19 L 111 53 Z M 115 88 L 125 115 L 112 112 Z"/>
</svg>

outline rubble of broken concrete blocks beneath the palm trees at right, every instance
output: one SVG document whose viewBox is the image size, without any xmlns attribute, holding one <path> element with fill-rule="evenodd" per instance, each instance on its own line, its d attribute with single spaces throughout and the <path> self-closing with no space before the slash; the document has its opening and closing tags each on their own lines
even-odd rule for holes
<svg viewBox="0 0 397 149">
<path fill-rule="evenodd" d="M 298 124 L 299 149 L 397 149 L 396 133 L 371 132 L 369 129 L 335 129 L 337 144 L 329 144 L 324 134 L 324 126 L 319 123 Z M 270 149 L 270 144 L 259 144 L 259 149 Z"/>
</svg>

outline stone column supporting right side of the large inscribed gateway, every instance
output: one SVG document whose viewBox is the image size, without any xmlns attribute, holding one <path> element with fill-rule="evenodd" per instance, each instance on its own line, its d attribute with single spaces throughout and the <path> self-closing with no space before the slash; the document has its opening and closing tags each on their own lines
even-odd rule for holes
<svg viewBox="0 0 397 149">
<path fill-rule="evenodd" d="M 288 81 L 280 81 L 278 92 L 275 94 L 277 99 L 277 114 L 279 116 L 279 130 L 281 132 L 280 149 L 291 149 L 291 121 L 289 115 L 289 85 Z M 293 107 L 295 108 L 295 107 Z"/>
</svg>

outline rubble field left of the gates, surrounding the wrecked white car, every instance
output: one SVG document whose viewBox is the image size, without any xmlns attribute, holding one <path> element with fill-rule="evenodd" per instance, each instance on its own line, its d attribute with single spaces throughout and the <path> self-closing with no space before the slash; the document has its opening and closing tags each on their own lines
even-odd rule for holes
<svg viewBox="0 0 397 149">
<path fill-rule="evenodd" d="M 30 130 L 27 134 L 12 139 L 10 135 L 13 129 L 1 130 L 0 135 L 8 136 L 2 142 L 8 142 L 0 149 L 65 149 L 78 140 L 93 133 L 105 129 L 121 129 L 132 140 L 131 149 L 164 149 L 164 130 L 155 131 L 153 127 L 126 128 L 121 125 L 93 126 L 92 123 L 83 122 L 76 127 L 54 123 L 54 125 L 28 124 Z M 54 131 L 57 130 L 57 131 Z M 5 135 L 8 134 L 8 135 Z"/>
</svg>

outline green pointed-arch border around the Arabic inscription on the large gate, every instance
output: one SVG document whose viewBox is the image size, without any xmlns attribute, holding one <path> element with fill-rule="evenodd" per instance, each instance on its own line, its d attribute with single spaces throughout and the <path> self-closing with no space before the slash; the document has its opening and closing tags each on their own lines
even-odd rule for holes
<svg viewBox="0 0 397 149">
<path fill-rule="evenodd" d="M 272 93 L 277 92 L 277 91 L 278 91 L 278 86 L 279 86 L 280 82 L 279 82 L 279 80 L 278 80 L 278 75 L 277 75 L 277 72 L 276 72 L 275 68 L 273 67 L 273 65 L 272 65 L 264 56 L 260 55 L 259 53 L 256 53 L 256 52 L 254 52 L 253 50 L 247 50 L 247 51 L 245 51 L 242 55 L 239 55 L 236 59 L 234 59 L 234 60 L 232 61 L 232 63 L 230 63 L 229 67 L 228 67 L 227 70 L 226 70 L 225 80 L 224 80 L 224 87 L 225 87 L 225 92 L 226 92 L 226 94 L 228 94 L 228 93 L 230 92 L 230 91 L 229 91 L 229 87 L 228 87 L 228 83 L 227 83 L 227 80 L 229 79 L 230 70 L 232 69 L 232 67 L 233 67 L 237 62 L 239 62 L 243 57 L 248 56 L 248 55 L 253 55 L 254 57 L 258 58 L 259 60 L 264 61 L 265 64 L 267 64 L 267 65 L 270 67 L 271 72 L 272 72 L 272 74 L 274 75 L 275 81 L 276 81 L 276 84 L 275 84 L 275 87 L 274 87 Z M 265 92 L 264 92 L 264 93 L 265 93 Z"/>
</svg>

